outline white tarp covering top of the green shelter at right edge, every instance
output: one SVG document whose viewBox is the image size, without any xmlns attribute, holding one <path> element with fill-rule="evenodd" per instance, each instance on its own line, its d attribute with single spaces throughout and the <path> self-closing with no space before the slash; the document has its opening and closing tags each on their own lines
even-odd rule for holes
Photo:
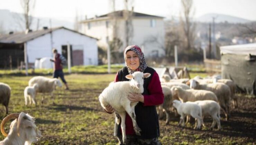
<svg viewBox="0 0 256 145">
<path fill-rule="evenodd" d="M 221 54 L 256 55 L 256 43 L 220 47 Z"/>
</svg>

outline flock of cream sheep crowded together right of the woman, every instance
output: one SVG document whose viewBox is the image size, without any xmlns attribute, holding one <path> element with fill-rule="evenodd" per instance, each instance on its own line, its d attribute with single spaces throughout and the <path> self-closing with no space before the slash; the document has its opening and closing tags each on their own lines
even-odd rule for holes
<svg viewBox="0 0 256 145">
<path fill-rule="evenodd" d="M 200 129 L 201 125 L 204 126 L 204 116 L 211 116 L 213 119 L 211 129 L 217 123 L 219 130 L 221 129 L 220 110 L 228 120 L 230 100 L 233 101 L 234 108 L 237 107 L 236 85 L 230 79 L 220 79 L 220 77 L 203 79 L 200 76 L 193 79 L 171 79 L 170 76 L 164 75 L 161 85 L 165 100 L 168 101 L 164 101 L 157 109 L 160 118 L 163 116 L 163 111 L 166 113 L 166 124 L 170 121 L 170 110 L 174 107 L 181 116 L 179 125 L 185 125 L 185 116 L 187 116 L 186 123 L 189 121 L 189 116 L 192 116 L 196 120 L 194 128 Z"/>
</svg>

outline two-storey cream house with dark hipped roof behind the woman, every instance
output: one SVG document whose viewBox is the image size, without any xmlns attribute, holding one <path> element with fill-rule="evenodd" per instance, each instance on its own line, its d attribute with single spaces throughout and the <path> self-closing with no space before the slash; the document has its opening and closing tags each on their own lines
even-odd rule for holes
<svg viewBox="0 0 256 145">
<path fill-rule="evenodd" d="M 131 28 L 129 28 L 130 41 L 127 44 L 127 25 L 126 14 L 130 13 Z M 128 45 L 140 46 L 145 57 L 161 57 L 164 52 L 164 17 L 153 16 L 144 13 L 131 11 L 115 11 L 81 21 L 80 32 L 98 39 L 98 45 L 107 48 L 107 42 L 114 37 L 122 41 L 120 51 L 123 51 Z M 116 21 L 116 25 L 115 25 Z"/>
</svg>

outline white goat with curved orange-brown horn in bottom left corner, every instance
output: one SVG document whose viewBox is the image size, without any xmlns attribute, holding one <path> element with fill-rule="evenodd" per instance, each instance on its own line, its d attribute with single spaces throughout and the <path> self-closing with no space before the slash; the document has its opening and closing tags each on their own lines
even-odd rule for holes
<svg viewBox="0 0 256 145">
<path fill-rule="evenodd" d="M 15 120 L 11 122 L 10 131 L 7 134 L 4 132 L 4 125 L 10 119 Z M 1 123 L 1 133 L 6 136 L 0 142 L 1 145 L 31 145 L 41 137 L 41 132 L 37 129 L 34 118 L 23 112 L 6 116 Z"/>
</svg>

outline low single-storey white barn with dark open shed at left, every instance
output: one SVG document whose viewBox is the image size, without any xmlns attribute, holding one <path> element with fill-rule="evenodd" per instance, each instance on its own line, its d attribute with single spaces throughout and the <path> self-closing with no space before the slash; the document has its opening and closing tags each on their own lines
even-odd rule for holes
<svg viewBox="0 0 256 145">
<path fill-rule="evenodd" d="M 17 65 L 19 61 L 24 61 L 24 46 L 27 48 L 28 64 L 32 65 L 37 59 L 53 57 L 52 48 L 56 48 L 58 53 L 67 57 L 68 44 L 72 50 L 73 66 L 98 65 L 97 39 L 65 27 L 44 27 L 37 31 L 0 35 L 0 44 L 0 54 L 8 58 L 11 56 L 12 62 Z"/>
</svg>

